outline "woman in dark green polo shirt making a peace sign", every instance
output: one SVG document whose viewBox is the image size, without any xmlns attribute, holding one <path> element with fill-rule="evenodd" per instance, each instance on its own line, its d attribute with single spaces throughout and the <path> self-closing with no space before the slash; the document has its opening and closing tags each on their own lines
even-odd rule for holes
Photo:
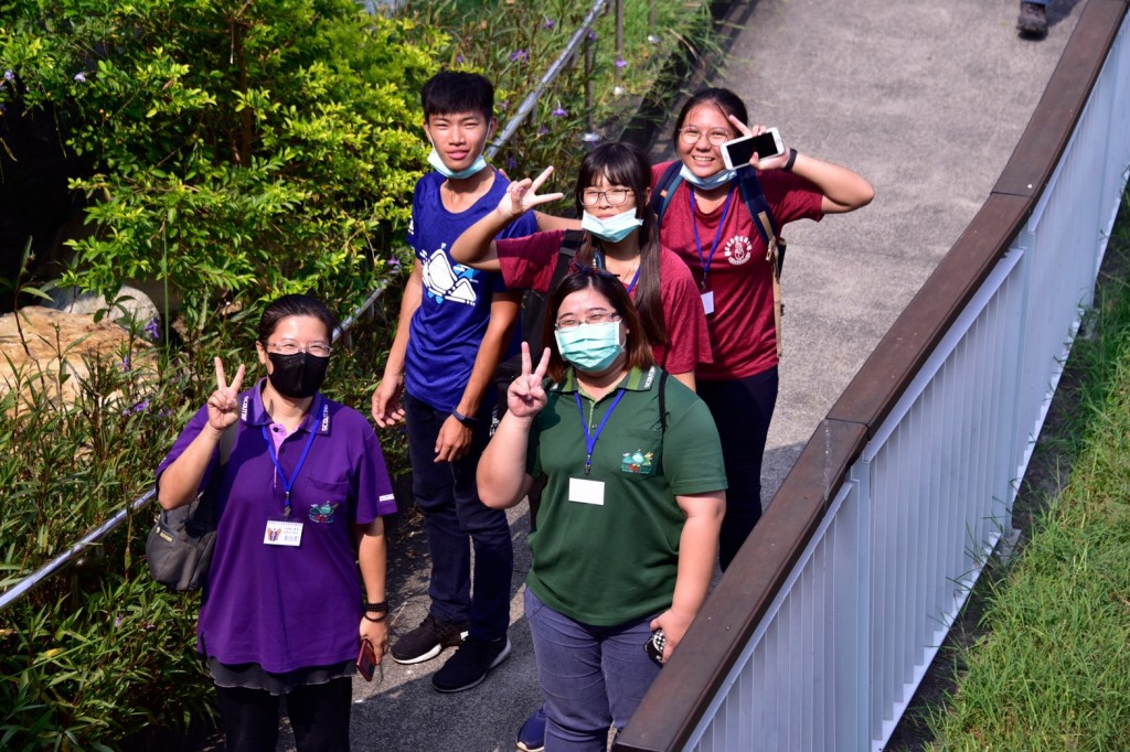
<svg viewBox="0 0 1130 752">
<path fill-rule="evenodd" d="M 659 673 L 652 632 L 666 661 L 706 598 L 725 471 L 710 411 L 655 367 L 616 278 L 566 277 L 546 309 L 551 347 L 532 369 L 522 346 L 479 496 L 511 507 L 548 478 L 525 589 L 546 749 L 605 750 Z"/>
</svg>

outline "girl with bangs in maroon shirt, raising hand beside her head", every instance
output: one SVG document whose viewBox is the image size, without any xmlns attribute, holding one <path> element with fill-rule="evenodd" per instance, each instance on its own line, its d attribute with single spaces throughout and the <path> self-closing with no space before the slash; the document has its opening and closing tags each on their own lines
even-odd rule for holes
<svg viewBox="0 0 1130 752">
<path fill-rule="evenodd" d="M 549 291 L 564 230 L 523 238 L 495 237 L 536 206 L 562 198 L 538 195 L 553 173 L 511 184 L 492 213 L 467 229 L 451 247 L 460 263 L 501 271 L 506 287 Z M 706 318 L 686 264 L 660 246 L 647 202 L 651 163 L 628 143 L 602 143 L 581 163 L 574 196 L 585 238 L 576 260 L 600 266 L 624 285 L 643 321 L 643 335 L 660 367 L 695 388 L 695 368 L 710 360 Z"/>
</svg>

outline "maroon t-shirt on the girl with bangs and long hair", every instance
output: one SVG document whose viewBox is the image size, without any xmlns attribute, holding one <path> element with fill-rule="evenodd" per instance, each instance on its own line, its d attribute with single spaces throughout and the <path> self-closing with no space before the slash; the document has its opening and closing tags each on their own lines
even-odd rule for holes
<svg viewBox="0 0 1130 752">
<path fill-rule="evenodd" d="M 534 233 L 529 237 L 499 238 L 498 265 L 506 287 L 549 291 L 557 251 L 565 230 Z M 635 290 L 629 294 L 635 297 Z M 659 252 L 659 296 L 663 304 L 663 324 L 670 344 L 652 346 L 660 368 L 671 374 L 694 371 L 710 362 L 710 340 L 698 290 L 687 265 L 667 248 Z"/>
</svg>

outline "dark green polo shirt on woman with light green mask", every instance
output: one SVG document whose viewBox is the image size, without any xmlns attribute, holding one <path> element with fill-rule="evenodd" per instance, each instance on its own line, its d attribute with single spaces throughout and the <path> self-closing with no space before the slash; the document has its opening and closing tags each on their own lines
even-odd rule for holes
<svg viewBox="0 0 1130 752">
<path fill-rule="evenodd" d="M 527 470 L 549 481 L 530 533 L 527 585 L 544 603 L 593 626 L 621 624 L 671 605 L 686 519 L 676 495 L 725 488 L 722 445 L 706 403 L 667 379 L 667 431 L 659 416 L 660 370 L 633 369 L 584 474 L 582 420 L 594 434 L 618 390 L 593 403 L 573 371 L 547 384 L 548 403 L 530 431 Z M 603 481 L 603 504 L 570 500 L 570 479 Z"/>
</svg>

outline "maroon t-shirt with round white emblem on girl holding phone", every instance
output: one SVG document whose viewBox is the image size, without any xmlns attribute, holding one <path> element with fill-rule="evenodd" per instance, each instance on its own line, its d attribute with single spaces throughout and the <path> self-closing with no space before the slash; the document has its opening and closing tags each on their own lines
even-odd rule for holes
<svg viewBox="0 0 1130 752">
<path fill-rule="evenodd" d="M 652 167 L 652 190 L 670 164 Z M 819 221 L 824 217 L 820 210 L 824 194 L 810 181 L 780 169 L 758 173 L 757 177 L 779 230 L 796 219 Z M 725 220 L 720 231 L 723 215 Z M 706 317 L 714 358 L 713 362 L 698 366 L 696 377 L 746 378 L 775 366 L 772 268 L 737 183 L 728 211 L 719 207 L 706 215 L 696 206 L 692 224 L 689 184 L 680 182 L 667 206 L 660 233 L 663 245 L 686 262 L 695 283 L 703 282 L 714 294 L 714 313 Z M 711 259 L 715 237 L 718 247 Z M 709 266 L 705 280 L 704 261 Z"/>
</svg>

